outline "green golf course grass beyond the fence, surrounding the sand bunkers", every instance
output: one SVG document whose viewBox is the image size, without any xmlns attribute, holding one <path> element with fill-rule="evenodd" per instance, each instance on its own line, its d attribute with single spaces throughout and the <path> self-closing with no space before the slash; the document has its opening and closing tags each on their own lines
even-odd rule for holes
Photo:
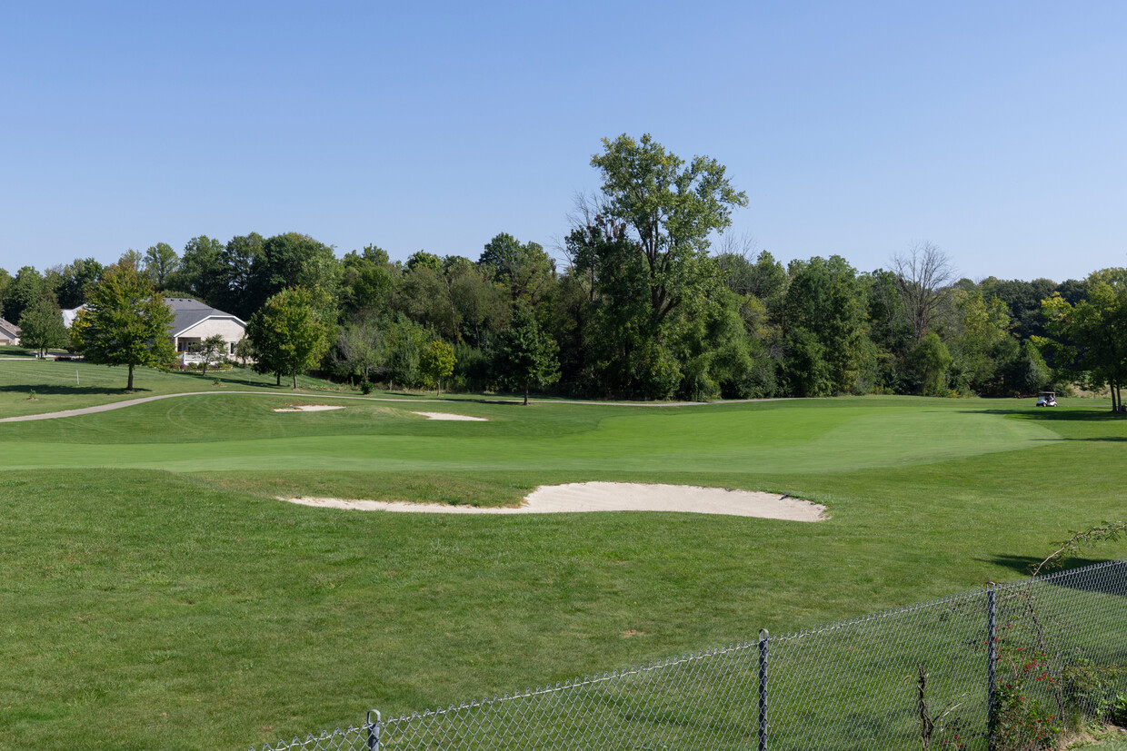
<svg viewBox="0 0 1127 751">
<path fill-rule="evenodd" d="M 1092 402 L 463 401 L 425 409 L 490 422 L 438 422 L 273 411 L 291 401 L 0 424 L 0 749 L 246 748 L 1014 579 L 1124 516 L 1127 421 Z M 832 518 L 274 499 L 489 506 L 585 480 L 791 492 Z"/>
</svg>

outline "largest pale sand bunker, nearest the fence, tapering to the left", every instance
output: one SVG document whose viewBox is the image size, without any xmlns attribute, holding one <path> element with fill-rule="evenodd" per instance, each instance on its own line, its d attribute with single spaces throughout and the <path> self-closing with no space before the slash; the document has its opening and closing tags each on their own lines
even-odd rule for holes
<svg viewBox="0 0 1127 751">
<path fill-rule="evenodd" d="M 544 485 L 524 499 L 520 508 L 479 508 L 445 503 L 346 501 L 336 498 L 287 498 L 293 503 L 357 511 L 416 513 L 569 513 L 577 511 L 681 511 L 725 513 L 761 519 L 820 521 L 826 507 L 775 493 L 699 488 L 695 485 L 645 485 L 640 483 L 583 482 Z"/>
</svg>

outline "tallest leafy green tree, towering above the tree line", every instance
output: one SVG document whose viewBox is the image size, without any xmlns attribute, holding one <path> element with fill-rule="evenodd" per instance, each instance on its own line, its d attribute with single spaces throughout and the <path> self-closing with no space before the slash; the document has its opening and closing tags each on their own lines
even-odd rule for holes
<svg viewBox="0 0 1127 751">
<path fill-rule="evenodd" d="M 648 134 L 604 138 L 592 166 L 602 173 L 602 195 L 580 198 L 566 243 L 568 274 L 588 289 L 589 352 L 582 365 L 569 357 L 569 370 L 591 369 L 605 393 L 666 399 L 678 387 L 711 390 L 721 379 L 711 372 L 719 360 L 694 322 L 727 320 L 712 310 L 727 298 L 718 294 L 722 278 L 708 256 L 709 235 L 730 225 L 746 196 L 716 160 L 686 163 Z M 571 299 L 586 316 L 588 306 Z"/>
</svg>

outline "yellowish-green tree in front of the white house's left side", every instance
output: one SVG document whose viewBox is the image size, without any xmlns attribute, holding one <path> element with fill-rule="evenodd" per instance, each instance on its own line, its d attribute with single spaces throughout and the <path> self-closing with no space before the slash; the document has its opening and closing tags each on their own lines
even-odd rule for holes
<svg viewBox="0 0 1127 751">
<path fill-rule="evenodd" d="M 90 289 L 86 307 L 71 324 L 71 341 L 90 363 L 127 366 L 125 388 L 132 391 L 135 367 L 176 358 L 169 337 L 172 318 L 148 275 L 127 263 L 114 265 Z"/>
</svg>

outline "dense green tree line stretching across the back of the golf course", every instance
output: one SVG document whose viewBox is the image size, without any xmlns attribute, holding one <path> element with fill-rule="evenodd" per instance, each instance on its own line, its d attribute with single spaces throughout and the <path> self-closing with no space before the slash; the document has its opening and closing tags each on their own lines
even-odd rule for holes
<svg viewBox="0 0 1127 751">
<path fill-rule="evenodd" d="M 930 243 L 873 271 L 840 256 L 783 265 L 722 235 L 747 198 L 715 160 L 623 135 L 592 167 L 602 188 L 577 202 L 561 265 L 504 232 L 474 254 L 406 262 L 376 245 L 337 258 L 298 233 L 201 235 L 112 267 L 0 270 L 0 314 L 37 332 L 130 267 L 165 296 L 248 321 L 259 351 L 240 355 L 278 378 L 314 368 L 365 387 L 708 400 L 1015 395 L 1127 377 L 1120 269 L 974 283 Z M 295 339 L 278 339 L 286 327 Z M 51 331 L 36 346 L 59 346 Z"/>
</svg>

